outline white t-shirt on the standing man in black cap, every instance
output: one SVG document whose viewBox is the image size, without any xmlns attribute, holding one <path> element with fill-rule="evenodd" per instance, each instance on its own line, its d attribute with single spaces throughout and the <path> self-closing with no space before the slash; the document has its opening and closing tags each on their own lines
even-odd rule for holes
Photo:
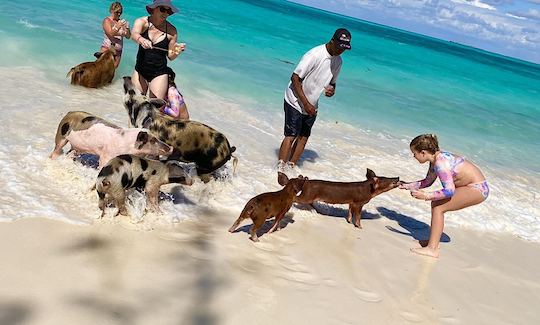
<svg viewBox="0 0 540 325">
<path fill-rule="evenodd" d="M 341 56 L 331 56 L 326 49 L 326 44 L 319 45 L 309 50 L 302 59 L 294 73 L 302 81 L 302 89 L 311 105 L 318 107 L 319 97 L 324 88 L 330 84 L 335 84 L 339 71 L 341 70 Z M 306 114 L 302 102 L 298 100 L 294 93 L 292 81 L 289 82 L 285 90 L 285 101 L 300 113 Z"/>
</svg>

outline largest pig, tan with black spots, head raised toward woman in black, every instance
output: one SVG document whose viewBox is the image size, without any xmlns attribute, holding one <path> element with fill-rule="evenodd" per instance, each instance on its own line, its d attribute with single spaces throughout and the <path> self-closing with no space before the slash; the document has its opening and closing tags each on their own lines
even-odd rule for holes
<svg viewBox="0 0 540 325">
<path fill-rule="evenodd" d="M 236 168 L 237 158 L 232 156 L 236 147 L 221 132 L 191 120 L 175 120 L 162 114 L 162 99 L 141 95 L 130 77 L 124 77 L 124 106 L 131 126 L 149 129 L 161 141 L 171 145 L 174 151 L 170 159 L 194 162 L 197 174 L 203 181 L 209 180 L 211 172 L 223 166 L 231 157 Z"/>
</svg>

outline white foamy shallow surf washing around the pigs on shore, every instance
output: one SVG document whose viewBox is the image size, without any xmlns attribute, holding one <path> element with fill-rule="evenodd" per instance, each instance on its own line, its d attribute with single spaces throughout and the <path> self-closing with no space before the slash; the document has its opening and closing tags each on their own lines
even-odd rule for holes
<svg viewBox="0 0 540 325">
<path fill-rule="evenodd" d="M 122 81 L 89 90 L 72 87 L 67 79 L 63 84 L 48 82 L 44 74 L 32 68 L 0 68 L 0 76 L 10 80 L 0 95 L 3 103 L 0 185 L 4 189 L 0 196 L 0 220 L 47 217 L 71 223 L 117 222 L 110 216 L 96 221 L 101 212 L 96 193 L 90 191 L 96 170 L 65 156 L 56 160 L 47 156 L 54 147 L 58 122 L 70 110 L 88 111 L 127 126 Z M 222 180 L 197 182 L 191 187 L 164 186 L 162 190 L 172 191 L 174 200 L 161 202 L 163 214 L 146 214 L 136 224 L 140 229 L 166 226 L 202 214 L 237 215 L 251 197 L 280 188 L 275 164 L 283 132 L 282 107 L 274 110 L 258 107 L 253 98 L 238 98 L 233 102 L 202 89 L 185 95 L 192 119 L 223 132 L 231 145 L 236 146 L 237 173 L 231 176 L 229 163 Z M 427 166 L 419 165 L 408 150 L 410 139 L 325 120 L 325 112 L 321 113 L 306 158 L 299 166 L 304 175 L 311 179 L 359 181 L 365 179 L 366 168 L 382 176 L 400 176 L 406 181 L 425 175 Z M 446 225 L 506 232 L 540 241 L 538 176 L 493 166 L 480 167 L 489 181 L 490 197 L 481 205 L 449 213 Z M 337 206 L 338 211 L 341 208 L 345 207 Z M 326 217 L 315 211 L 293 209 L 299 220 Z M 414 200 L 407 191 L 385 193 L 365 209 L 390 219 L 400 215 L 426 224 L 430 220 L 429 203 Z M 397 224 L 395 228 L 407 232 Z"/>
</svg>

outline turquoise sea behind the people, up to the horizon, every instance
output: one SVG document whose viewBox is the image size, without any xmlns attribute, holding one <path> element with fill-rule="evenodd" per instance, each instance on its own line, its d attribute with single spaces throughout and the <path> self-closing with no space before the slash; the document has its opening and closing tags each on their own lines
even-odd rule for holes
<svg viewBox="0 0 540 325">
<path fill-rule="evenodd" d="M 147 1 L 124 1 L 131 25 Z M 109 1 L 2 1 L 0 66 L 31 66 L 65 82 L 92 60 Z M 436 133 L 444 147 L 494 168 L 540 172 L 540 66 L 286 1 L 176 1 L 170 21 L 187 44 L 171 66 L 185 89 L 208 89 L 257 109 L 282 109 L 283 91 L 303 53 L 337 27 L 352 51 L 336 96 L 320 119 L 385 136 Z M 130 75 L 136 46 L 125 41 L 116 78 Z"/>
</svg>

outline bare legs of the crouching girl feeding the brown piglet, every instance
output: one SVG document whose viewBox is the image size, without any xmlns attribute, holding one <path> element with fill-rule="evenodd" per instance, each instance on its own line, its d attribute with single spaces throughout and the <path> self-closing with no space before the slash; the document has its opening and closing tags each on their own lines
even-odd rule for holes
<svg viewBox="0 0 540 325">
<path fill-rule="evenodd" d="M 431 202 L 431 230 L 429 242 L 426 247 L 413 248 L 411 251 L 421 255 L 439 257 L 439 243 L 444 229 L 444 213 L 457 211 L 485 200 L 479 190 L 462 186 L 456 188 L 454 195 L 450 199 Z"/>
</svg>

